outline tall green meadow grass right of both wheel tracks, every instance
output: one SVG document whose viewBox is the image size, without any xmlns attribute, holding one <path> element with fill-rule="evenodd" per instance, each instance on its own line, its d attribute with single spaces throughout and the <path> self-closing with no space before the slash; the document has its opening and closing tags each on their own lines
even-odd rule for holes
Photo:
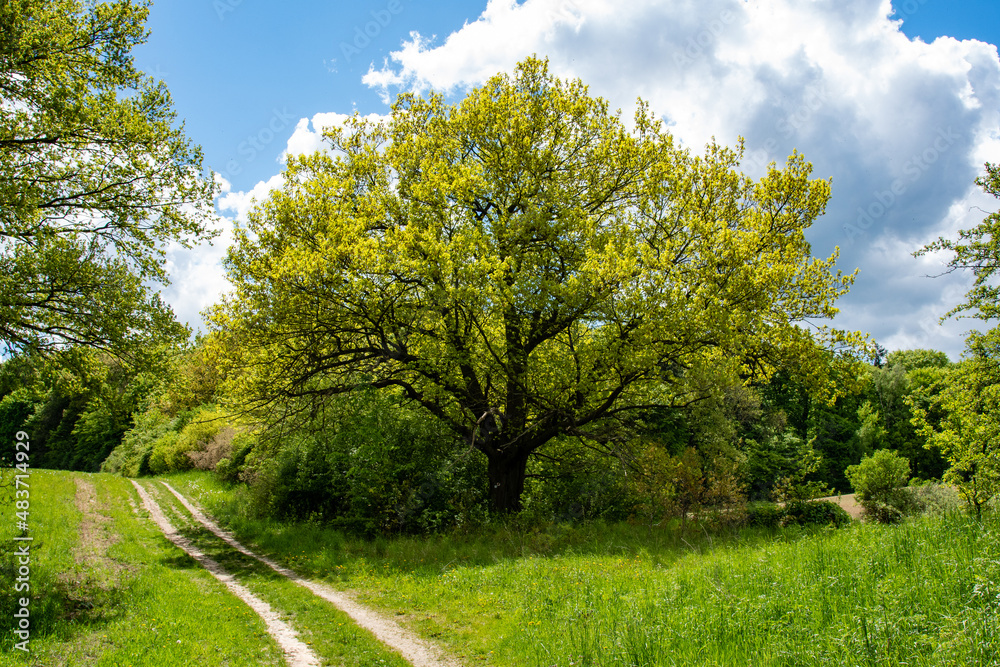
<svg viewBox="0 0 1000 667">
<path fill-rule="evenodd" d="M 363 541 L 242 513 L 175 480 L 241 537 L 495 665 L 997 665 L 1000 524 L 679 534 L 497 526 Z"/>
</svg>

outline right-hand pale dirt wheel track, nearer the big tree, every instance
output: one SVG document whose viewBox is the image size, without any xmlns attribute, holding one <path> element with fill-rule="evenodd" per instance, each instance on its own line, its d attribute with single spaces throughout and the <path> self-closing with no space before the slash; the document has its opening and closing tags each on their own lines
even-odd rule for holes
<svg viewBox="0 0 1000 667">
<path fill-rule="evenodd" d="M 405 629 L 392 619 L 386 618 L 382 614 L 379 614 L 364 605 L 358 604 L 349 596 L 334 590 L 326 584 L 303 579 L 294 571 L 279 565 L 270 558 L 267 558 L 266 556 L 258 556 L 253 553 L 237 542 L 236 538 L 234 538 L 230 533 L 219 528 L 214 521 L 205 516 L 205 514 L 198 509 L 197 506 L 178 493 L 174 487 L 163 481 L 160 483 L 163 484 L 163 486 L 165 486 L 172 494 L 174 494 L 177 500 L 184 505 L 196 521 L 212 531 L 216 537 L 223 540 L 240 553 L 257 559 L 283 577 L 298 584 L 299 586 L 309 589 L 313 592 L 313 594 L 332 603 L 335 607 L 353 618 L 358 625 L 374 634 L 383 644 L 394 649 L 406 658 L 413 664 L 414 667 L 461 667 L 458 662 L 455 662 L 453 659 L 446 656 L 440 648 L 421 639 L 416 634 Z"/>
</svg>

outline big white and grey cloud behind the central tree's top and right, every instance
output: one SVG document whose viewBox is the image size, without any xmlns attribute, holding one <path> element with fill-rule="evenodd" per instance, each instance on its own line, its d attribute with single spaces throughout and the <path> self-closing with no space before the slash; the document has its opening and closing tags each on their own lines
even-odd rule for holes
<svg viewBox="0 0 1000 667">
<path fill-rule="evenodd" d="M 533 54 L 626 116 L 642 97 L 694 150 L 745 137 L 750 173 L 802 152 L 833 179 L 814 251 L 861 268 L 836 324 L 957 358 L 968 323 L 937 319 L 968 277 L 926 278 L 932 260 L 911 253 L 996 209 L 973 186 L 1000 161 L 996 46 L 910 40 L 889 0 L 490 0 L 443 40 L 411 34 L 364 82 L 460 95 Z"/>
</svg>

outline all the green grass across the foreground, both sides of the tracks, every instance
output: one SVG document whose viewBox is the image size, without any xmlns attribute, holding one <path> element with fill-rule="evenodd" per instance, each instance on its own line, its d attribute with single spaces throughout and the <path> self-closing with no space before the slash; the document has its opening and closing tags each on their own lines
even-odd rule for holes
<svg viewBox="0 0 1000 667">
<path fill-rule="evenodd" d="M 77 507 L 81 479 L 96 489 L 93 511 Z M 280 664 L 259 619 L 133 511 L 127 480 L 35 471 L 31 482 L 32 652 L 12 651 L 5 632 L 0 664 Z M 207 475 L 170 482 L 248 546 L 355 591 L 467 665 L 1000 664 L 992 517 L 684 535 L 496 526 L 364 541 L 249 518 L 238 494 Z M 405 664 L 323 601 L 228 550 L 161 485 L 146 486 L 326 664 Z M 12 529 L 13 520 L 0 523 L 5 554 Z"/>
</svg>

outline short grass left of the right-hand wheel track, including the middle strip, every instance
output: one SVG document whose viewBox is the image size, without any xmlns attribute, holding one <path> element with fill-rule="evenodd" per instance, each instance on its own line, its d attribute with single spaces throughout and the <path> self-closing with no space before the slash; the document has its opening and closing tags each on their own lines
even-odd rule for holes
<svg viewBox="0 0 1000 667">
<path fill-rule="evenodd" d="M 84 511 L 78 482 L 94 490 Z M 0 665 L 281 665 L 264 623 L 223 584 L 170 544 L 138 508 L 131 483 L 114 475 L 33 471 L 30 478 L 30 653 L 4 622 Z M 221 548 L 148 484 L 175 526 L 241 583 L 292 619 L 334 665 L 405 665 L 345 615 L 255 561 Z M 160 487 L 162 489 L 162 487 Z M 4 506 L 9 506 L 4 503 Z M 3 618 L 12 619 L 13 511 L 0 524 Z M 300 592 L 301 591 L 301 592 Z M 20 596 L 21 594 L 17 594 Z"/>
</svg>

